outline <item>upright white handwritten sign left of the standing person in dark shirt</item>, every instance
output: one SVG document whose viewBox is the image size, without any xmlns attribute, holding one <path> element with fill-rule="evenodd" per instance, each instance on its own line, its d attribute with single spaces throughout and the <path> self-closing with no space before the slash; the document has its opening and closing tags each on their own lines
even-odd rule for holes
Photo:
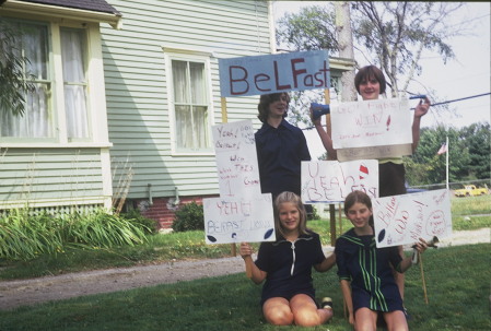
<svg viewBox="0 0 491 331">
<path fill-rule="evenodd" d="M 212 127 L 220 197 L 260 197 L 253 122 L 242 120 Z"/>
</svg>

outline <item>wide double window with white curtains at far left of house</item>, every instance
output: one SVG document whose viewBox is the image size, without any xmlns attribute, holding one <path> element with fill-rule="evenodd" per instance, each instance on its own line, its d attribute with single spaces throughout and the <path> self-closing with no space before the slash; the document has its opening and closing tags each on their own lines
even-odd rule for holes
<svg viewBox="0 0 491 331">
<path fill-rule="evenodd" d="M 35 90 L 25 95 L 23 115 L 2 111 L 0 137 L 9 141 L 86 140 L 90 126 L 85 29 L 26 22 L 12 24 L 22 32 L 15 47 L 28 59 L 24 80 L 33 83 Z M 58 62 L 52 57 L 55 48 L 60 49 Z M 63 87 L 56 88 L 57 85 Z"/>
</svg>

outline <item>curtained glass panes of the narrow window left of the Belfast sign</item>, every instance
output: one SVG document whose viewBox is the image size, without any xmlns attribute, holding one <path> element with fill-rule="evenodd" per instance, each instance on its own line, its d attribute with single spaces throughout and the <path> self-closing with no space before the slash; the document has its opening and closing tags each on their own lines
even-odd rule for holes
<svg viewBox="0 0 491 331">
<path fill-rule="evenodd" d="M 204 62 L 172 60 L 176 150 L 210 149 Z"/>
</svg>

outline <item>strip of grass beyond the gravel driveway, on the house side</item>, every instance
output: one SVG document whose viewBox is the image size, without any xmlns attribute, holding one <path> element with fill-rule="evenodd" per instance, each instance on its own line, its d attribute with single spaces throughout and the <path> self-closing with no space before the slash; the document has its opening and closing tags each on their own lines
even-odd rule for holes
<svg viewBox="0 0 491 331">
<path fill-rule="evenodd" d="M 490 227 L 490 214 L 491 196 L 452 199 L 454 230 Z M 336 217 L 338 217 L 338 213 L 336 213 Z M 320 235 L 324 245 L 330 245 L 329 221 L 308 221 L 307 226 Z M 350 227 L 351 223 L 343 217 L 342 232 Z M 338 224 L 337 235 L 339 233 Z M 94 269 L 227 256 L 231 256 L 231 245 L 206 245 L 202 230 L 150 235 L 143 244 L 136 246 L 92 249 L 67 248 L 56 253 L 40 255 L 30 261 L 0 259 L 0 280 L 38 277 Z"/>
</svg>

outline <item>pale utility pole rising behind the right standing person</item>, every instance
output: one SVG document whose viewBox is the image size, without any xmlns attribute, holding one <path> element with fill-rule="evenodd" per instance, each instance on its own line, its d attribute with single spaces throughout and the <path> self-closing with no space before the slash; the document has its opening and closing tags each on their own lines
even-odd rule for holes
<svg viewBox="0 0 491 331">
<path fill-rule="evenodd" d="M 351 15 L 349 1 L 335 1 L 336 31 L 338 35 L 339 56 L 354 60 L 353 35 L 351 33 Z M 354 69 L 341 75 L 341 102 L 354 102 L 358 98 L 354 87 Z"/>
</svg>

